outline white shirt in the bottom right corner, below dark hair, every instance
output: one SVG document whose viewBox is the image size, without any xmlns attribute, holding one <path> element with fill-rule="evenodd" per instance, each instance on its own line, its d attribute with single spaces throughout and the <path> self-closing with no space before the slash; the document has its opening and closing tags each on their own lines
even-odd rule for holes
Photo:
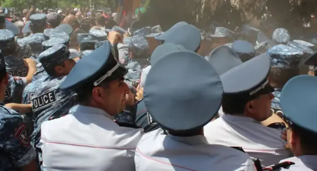
<svg viewBox="0 0 317 171">
<path fill-rule="evenodd" d="M 291 157 L 288 159 L 281 160 L 292 161 L 295 164 L 291 165 L 288 169 L 281 168 L 283 171 L 316 171 L 317 170 L 317 155 L 301 155 L 297 157 Z"/>
</svg>

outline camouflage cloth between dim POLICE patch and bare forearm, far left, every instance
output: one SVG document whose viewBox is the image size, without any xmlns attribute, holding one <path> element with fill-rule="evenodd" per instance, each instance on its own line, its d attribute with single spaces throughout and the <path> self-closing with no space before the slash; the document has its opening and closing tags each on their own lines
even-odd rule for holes
<svg viewBox="0 0 317 171">
<path fill-rule="evenodd" d="M 4 104 L 22 103 L 23 89 L 26 85 L 27 82 L 24 78 L 9 75 L 9 84 L 6 88 Z"/>
</svg>

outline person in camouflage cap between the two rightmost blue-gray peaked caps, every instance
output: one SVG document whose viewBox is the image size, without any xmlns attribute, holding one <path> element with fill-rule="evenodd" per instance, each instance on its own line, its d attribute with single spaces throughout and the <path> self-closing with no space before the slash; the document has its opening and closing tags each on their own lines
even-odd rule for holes
<svg viewBox="0 0 317 171">
<path fill-rule="evenodd" d="M 296 75 L 300 74 L 300 63 L 304 58 L 304 53 L 299 49 L 289 47 L 283 44 L 276 45 L 267 51 L 272 59 L 272 68 L 270 71 L 270 84 L 275 88 L 272 99 L 272 110 L 275 114 L 282 116 L 280 106 L 281 90 L 285 83 Z"/>
</svg>

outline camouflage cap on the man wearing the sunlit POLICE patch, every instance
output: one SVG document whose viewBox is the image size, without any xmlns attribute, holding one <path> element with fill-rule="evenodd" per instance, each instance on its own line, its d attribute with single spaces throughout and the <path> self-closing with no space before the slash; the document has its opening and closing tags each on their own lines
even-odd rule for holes
<svg viewBox="0 0 317 171">
<path fill-rule="evenodd" d="M 52 68 L 69 59 L 69 55 L 70 51 L 65 45 L 57 44 L 43 51 L 38 58 L 44 68 Z"/>
</svg>

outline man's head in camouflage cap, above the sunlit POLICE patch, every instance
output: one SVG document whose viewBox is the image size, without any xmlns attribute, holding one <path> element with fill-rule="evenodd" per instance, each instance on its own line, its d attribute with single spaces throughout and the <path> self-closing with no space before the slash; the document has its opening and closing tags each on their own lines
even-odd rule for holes
<svg viewBox="0 0 317 171">
<path fill-rule="evenodd" d="M 51 76 L 68 75 L 76 62 L 69 59 L 70 52 L 64 44 L 57 44 L 43 51 L 39 56 L 45 71 Z"/>
</svg>

